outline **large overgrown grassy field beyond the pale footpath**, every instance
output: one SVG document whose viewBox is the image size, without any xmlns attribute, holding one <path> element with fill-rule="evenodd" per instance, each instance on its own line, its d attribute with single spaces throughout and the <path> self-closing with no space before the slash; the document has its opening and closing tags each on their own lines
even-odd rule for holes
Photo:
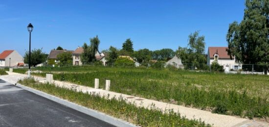
<svg viewBox="0 0 269 127">
<path fill-rule="evenodd" d="M 37 70 L 52 73 L 57 80 L 90 87 L 94 86 L 94 78 L 99 78 L 101 88 L 110 79 L 111 91 L 219 114 L 269 118 L 269 76 L 92 66 Z M 14 69 L 14 72 L 26 70 Z"/>
</svg>

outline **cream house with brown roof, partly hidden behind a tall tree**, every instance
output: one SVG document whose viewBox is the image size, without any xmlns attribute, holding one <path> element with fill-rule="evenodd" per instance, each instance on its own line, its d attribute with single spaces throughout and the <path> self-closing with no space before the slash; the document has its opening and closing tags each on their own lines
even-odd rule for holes
<svg viewBox="0 0 269 127">
<path fill-rule="evenodd" d="M 73 65 L 82 65 L 82 61 L 80 57 L 82 53 L 83 53 L 82 47 L 78 47 L 75 51 L 73 51 L 72 53 Z M 95 53 L 96 60 L 101 61 L 104 66 L 106 65 L 106 62 L 107 62 L 106 56 L 107 56 L 107 53 L 102 53 L 102 52 L 99 52 L 98 50 Z"/>
</svg>

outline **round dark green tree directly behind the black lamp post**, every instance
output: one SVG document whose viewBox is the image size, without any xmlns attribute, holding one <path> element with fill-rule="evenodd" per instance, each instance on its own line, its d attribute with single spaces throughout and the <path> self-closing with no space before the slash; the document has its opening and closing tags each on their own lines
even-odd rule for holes
<svg viewBox="0 0 269 127">
<path fill-rule="evenodd" d="M 42 52 L 42 49 L 34 49 L 31 51 L 31 65 L 36 66 L 46 61 L 48 54 Z M 24 56 L 24 63 L 29 64 L 29 51 L 26 51 Z"/>
</svg>

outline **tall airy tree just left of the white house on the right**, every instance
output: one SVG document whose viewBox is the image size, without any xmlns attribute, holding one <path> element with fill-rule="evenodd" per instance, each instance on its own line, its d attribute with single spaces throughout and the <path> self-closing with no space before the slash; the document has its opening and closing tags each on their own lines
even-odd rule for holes
<svg viewBox="0 0 269 127">
<path fill-rule="evenodd" d="M 177 56 L 182 60 L 186 69 L 194 68 L 194 64 L 198 69 L 203 69 L 206 63 L 204 47 L 204 36 L 199 36 L 199 31 L 195 31 L 189 35 L 188 47 L 179 47 Z"/>
</svg>

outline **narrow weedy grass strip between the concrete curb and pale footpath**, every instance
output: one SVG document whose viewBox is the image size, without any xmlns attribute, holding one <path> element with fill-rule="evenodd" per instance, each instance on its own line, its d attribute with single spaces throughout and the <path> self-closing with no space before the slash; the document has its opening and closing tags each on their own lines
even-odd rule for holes
<svg viewBox="0 0 269 127">
<path fill-rule="evenodd" d="M 152 110 L 149 110 L 144 107 L 137 107 L 133 103 L 127 103 L 123 99 L 113 98 L 109 100 L 99 95 L 75 92 L 52 84 L 41 84 L 34 79 L 20 80 L 19 83 L 141 127 L 210 127 L 201 120 L 188 120 L 173 111 L 163 113 L 154 106 L 152 106 Z"/>
</svg>

